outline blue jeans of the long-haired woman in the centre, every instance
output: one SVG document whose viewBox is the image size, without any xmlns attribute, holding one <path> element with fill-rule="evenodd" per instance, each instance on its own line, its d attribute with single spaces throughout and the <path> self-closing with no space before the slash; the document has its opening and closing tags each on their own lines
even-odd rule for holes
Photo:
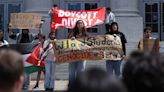
<svg viewBox="0 0 164 92">
<path fill-rule="evenodd" d="M 76 61 L 69 63 L 69 86 L 72 84 L 72 81 L 75 80 L 76 76 L 80 74 L 81 71 L 85 69 L 86 61 Z"/>
</svg>

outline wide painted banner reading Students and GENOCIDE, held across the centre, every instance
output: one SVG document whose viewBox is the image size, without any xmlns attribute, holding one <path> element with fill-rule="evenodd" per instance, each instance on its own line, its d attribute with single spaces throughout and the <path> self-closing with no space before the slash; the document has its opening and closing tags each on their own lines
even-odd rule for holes
<svg viewBox="0 0 164 92">
<path fill-rule="evenodd" d="M 54 43 L 54 52 L 56 63 L 79 60 L 121 60 L 123 54 L 120 37 L 116 35 L 57 40 Z"/>
</svg>

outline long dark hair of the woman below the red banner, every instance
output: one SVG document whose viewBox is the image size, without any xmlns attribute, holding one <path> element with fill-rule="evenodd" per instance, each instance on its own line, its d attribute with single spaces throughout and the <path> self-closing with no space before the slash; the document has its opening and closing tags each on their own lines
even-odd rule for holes
<svg viewBox="0 0 164 92">
<path fill-rule="evenodd" d="M 78 20 L 77 22 L 76 22 L 76 25 L 75 25 L 75 27 L 73 28 L 73 36 L 74 37 L 76 37 L 77 35 L 79 35 L 79 28 L 78 28 L 78 23 L 80 22 L 80 21 L 82 21 L 82 20 Z M 83 22 L 83 21 L 82 21 Z M 87 31 L 87 29 L 85 28 L 85 24 L 84 24 L 84 22 L 83 22 L 83 25 L 84 25 L 84 27 L 82 28 L 82 36 L 87 36 L 87 34 L 86 34 L 86 31 Z"/>
</svg>

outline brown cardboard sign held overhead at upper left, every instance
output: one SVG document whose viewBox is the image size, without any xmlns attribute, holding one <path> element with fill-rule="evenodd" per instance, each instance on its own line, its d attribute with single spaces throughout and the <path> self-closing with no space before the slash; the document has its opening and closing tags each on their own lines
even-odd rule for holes
<svg viewBox="0 0 164 92">
<path fill-rule="evenodd" d="M 12 13 L 10 26 L 12 29 L 38 29 L 41 16 L 35 13 Z"/>
</svg>

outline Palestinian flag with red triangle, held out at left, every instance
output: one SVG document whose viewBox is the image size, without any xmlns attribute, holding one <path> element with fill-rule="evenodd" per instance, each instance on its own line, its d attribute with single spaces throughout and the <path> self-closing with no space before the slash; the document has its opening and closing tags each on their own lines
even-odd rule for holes
<svg viewBox="0 0 164 92">
<path fill-rule="evenodd" d="M 38 66 L 40 56 L 40 46 L 38 43 L 20 43 L 10 44 L 9 48 L 14 49 L 22 54 L 25 73 L 39 72 L 44 69 L 44 63 Z"/>
</svg>

